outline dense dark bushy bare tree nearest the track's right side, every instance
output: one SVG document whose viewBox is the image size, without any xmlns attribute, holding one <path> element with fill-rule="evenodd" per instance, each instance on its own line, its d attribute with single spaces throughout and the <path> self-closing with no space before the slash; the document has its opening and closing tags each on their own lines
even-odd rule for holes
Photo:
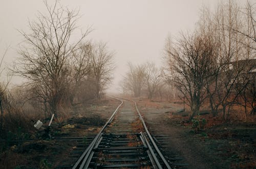
<svg viewBox="0 0 256 169">
<path fill-rule="evenodd" d="M 170 44 L 167 41 L 165 48 L 169 82 L 174 83 L 190 106 L 191 121 L 207 97 L 204 86 L 215 46 L 202 35 L 183 34 L 176 43 Z"/>
</svg>

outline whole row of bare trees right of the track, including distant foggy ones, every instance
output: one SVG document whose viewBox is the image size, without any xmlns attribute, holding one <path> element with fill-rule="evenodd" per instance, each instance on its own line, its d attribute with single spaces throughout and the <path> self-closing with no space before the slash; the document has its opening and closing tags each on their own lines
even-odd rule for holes
<svg viewBox="0 0 256 169">
<path fill-rule="evenodd" d="M 147 88 L 148 98 L 161 91 L 160 84 L 175 87 L 180 99 L 190 107 L 189 120 L 202 106 L 213 116 L 229 117 L 235 106 L 244 108 L 244 117 L 256 112 L 256 9 L 247 2 L 219 4 L 214 12 L 203 8 L 196 29 L 168 37 L 164 46 L 163 71 L 154 64 L 134 66 L 121 84 L 140 96 Z M 153 95 L 152 95 L 153 94 Z"/>
</svg>

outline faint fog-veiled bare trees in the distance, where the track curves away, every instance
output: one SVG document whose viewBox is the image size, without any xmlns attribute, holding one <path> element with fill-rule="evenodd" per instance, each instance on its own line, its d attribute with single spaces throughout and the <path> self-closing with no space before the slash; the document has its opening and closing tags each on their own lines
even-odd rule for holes
<svg viewBox="0 0 256 169">
<path fill-rule="evenodd" d="M 119 88 L 123 95 L 132 97 L 147 97 L 175 100 L 179 93 L 175 87 L 168 83 L 164 77 L 164 71 L 153 62 L 135 65 L 127 64 L 129 70 L 119 82 Z"/>
</svg>

